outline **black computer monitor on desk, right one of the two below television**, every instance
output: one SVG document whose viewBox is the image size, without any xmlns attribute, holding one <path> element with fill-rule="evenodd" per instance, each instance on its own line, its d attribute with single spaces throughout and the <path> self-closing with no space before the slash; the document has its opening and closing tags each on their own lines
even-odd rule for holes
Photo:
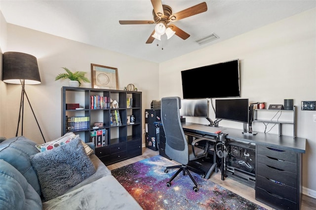
<svg viewBox="0 0 316 210">
<path fill-rule="evenodd" d="M 249 99 L 215 100 L 216 119 L 248 123 Z"/>
</svg>

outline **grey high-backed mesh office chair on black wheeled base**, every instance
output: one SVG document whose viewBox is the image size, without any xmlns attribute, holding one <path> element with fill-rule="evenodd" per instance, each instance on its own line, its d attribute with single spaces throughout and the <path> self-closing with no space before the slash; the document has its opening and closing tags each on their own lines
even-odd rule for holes
<svg viewBox="0 0 316 210">
<path fill-rule="evenodd" d="M 179 97 L 165 97 L 161 99 L 161 121 L 166 137 L 165 153 L 166 155 L 182 165 L 169 166 L 164 170 L 168 173 L 168 169 L 179 169 L 167 182 L 167 186 L 171 186 L 171 181 L 182 171 L 183 175 L 186 173 L 190 176 L 195 186 L 193 190 L 198 191 L 197 182 L 189 172 L 195 172 L 199 175 L 204 175 L 204 172 L 188 166 L 190 161 L 197 160 L 207 156 L 208 145 L 211 140 L 205 138 L 197 138 L 189 145 L 188 140 L 184 134 L 180 121 L 181 99 Z M 199 141 L 205 141 L 204 148 L 196 147 Z"/>
</svg>

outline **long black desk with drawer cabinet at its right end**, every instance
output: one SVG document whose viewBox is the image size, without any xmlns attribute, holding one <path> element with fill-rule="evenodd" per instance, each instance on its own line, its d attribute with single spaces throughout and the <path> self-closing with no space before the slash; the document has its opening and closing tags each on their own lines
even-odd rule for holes
<svg viewBox="0 0 316 210">
<path fill-rule="evenodd" d="M 210 127 L 184 122 L 183 130 L 188 135 L 209 137 L 221 131 L 228 141 L 255 144 L 255 192 L 256 200 L 276 209 L 299 210 L 302 199 L 302 153 L 306 139 L 258 132 L 242 134 L 239 129 Z"/>
</svg>

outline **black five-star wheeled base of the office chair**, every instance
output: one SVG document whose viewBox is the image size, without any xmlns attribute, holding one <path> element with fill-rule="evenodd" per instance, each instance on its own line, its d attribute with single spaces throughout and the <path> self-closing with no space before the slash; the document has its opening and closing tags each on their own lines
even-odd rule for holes
<svg viewBox="0 0 316 210">
<path fill-rule="evenodd" d="M 172 175 L 172 177 L 169 179 L 169 181 L 167 182 L 167 186 L 170 187 L 171 186 L 171 181 L 180 174 L 180 172 L 182 172 L 183 175 L 186 175 L 186 173 L 190 176 L 191 180 L 193 181 L 193 183 L 195 184 L 195 186 L 193 187 L 193 190 L 195 192 L 198 191 L 197 188 L 197 182 L 196 180 L 193 178 L 193 176 L 191 175 L 190 171 L 197 173 L 197 174 L 201 174 L 202 176 L 204 176 L 204 172 L 197 170 L 195 168 L 192 168 L 190 166 L 187 165 L 177 165 L 177 166 L 168 166 L 166 167 L 166 169 L 164 170 L 165 173 L 168 173 L 168 169 L 179 169 L 174 175 Z M 190 171 L 189 171 L 190 170 Z"/>
</svg>

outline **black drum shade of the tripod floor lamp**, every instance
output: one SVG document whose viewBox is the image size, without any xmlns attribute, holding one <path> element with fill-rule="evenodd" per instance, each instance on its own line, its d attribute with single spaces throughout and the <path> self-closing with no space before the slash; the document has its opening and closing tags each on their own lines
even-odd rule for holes
<svg viewBox="0 0 316 210">
<path fill-rule="evenodd" d="M 38 61 L 33 55 L 21 52 L 5 52 L 2 61 L 2 81 L 6 83 L 40 84 Z"/>
</svg>

